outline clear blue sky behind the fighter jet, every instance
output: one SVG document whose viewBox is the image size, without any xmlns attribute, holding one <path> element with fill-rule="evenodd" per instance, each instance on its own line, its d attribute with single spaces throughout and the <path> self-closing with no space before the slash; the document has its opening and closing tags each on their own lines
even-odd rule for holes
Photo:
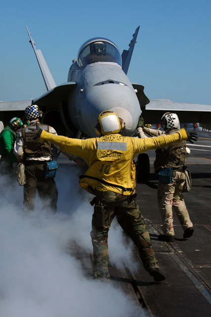
<svg viewBox="0 0 211 317">
<path fill-rule="evenodd" d="M 92 37 L 128 49 L 140 25 L 128 77 L 149 99 L 211 104 L 210 0 L 8 0 L 0 7 L 0 100 L 27 100 L 44 82 L 25 28 L 41 49 L 55 83 Z"/>
</svg>

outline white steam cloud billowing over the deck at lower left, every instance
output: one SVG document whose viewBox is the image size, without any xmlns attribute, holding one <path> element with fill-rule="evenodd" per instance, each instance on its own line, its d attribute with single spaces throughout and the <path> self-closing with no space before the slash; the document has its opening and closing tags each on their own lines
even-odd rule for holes
<svg viewBox="0 0 211 317">
<path fill-rule="evenodd" d="M 22 211 L 23 187 L 0 176 L 0 316 L 140 317 L 143 310 L 117 289 L 86 278 L 81 263 L 66 252 L 77 242 L 92 253 L 93 196 L 78 185 L 75 165 L 60 166 L 56 214 Z M 116 266 L 132 261 L 119 226 L 109 231 L 109 257 Z"/>
</svg>

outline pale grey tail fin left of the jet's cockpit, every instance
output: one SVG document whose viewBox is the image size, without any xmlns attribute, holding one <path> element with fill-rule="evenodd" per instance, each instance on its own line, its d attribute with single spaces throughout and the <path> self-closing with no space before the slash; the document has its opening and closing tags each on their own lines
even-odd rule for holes
<svg viewBox="0 0 211 317">
<path fill-rule="evenodd" d="M 56 84 L 55 84 L 55 82 L 53 80 L 53 76 L 52 76 L 52 74 L 51 74 L 51 72 L 49 70 L 49 67 L 48 67 L 48 65 L 46 63 L 46 60 L 45 60 L 41 50 L 36 50 L 35 42 L 32 39 L 31 33 L 29 32 L 27 26 L 26 26 L 26 29 L 27 29 L 27 32 L 28 32 L 29 38 L 30 38 L 29 42 L 31 43 L 32 48 L 33 48 L 33 50 L 35 52 L 35 55 L 36 55 L 36 58 L 37 58 L 37 61 L 38 61 L 38 64 L 39 64 L 39 67 L 40 67 L 44 82 L 45 82 L 45 85 L 46 85 L 46 89 L 47 89 L 47 91 L 49 91 L 52 88 L 56 87 Z"/>
</svg>

